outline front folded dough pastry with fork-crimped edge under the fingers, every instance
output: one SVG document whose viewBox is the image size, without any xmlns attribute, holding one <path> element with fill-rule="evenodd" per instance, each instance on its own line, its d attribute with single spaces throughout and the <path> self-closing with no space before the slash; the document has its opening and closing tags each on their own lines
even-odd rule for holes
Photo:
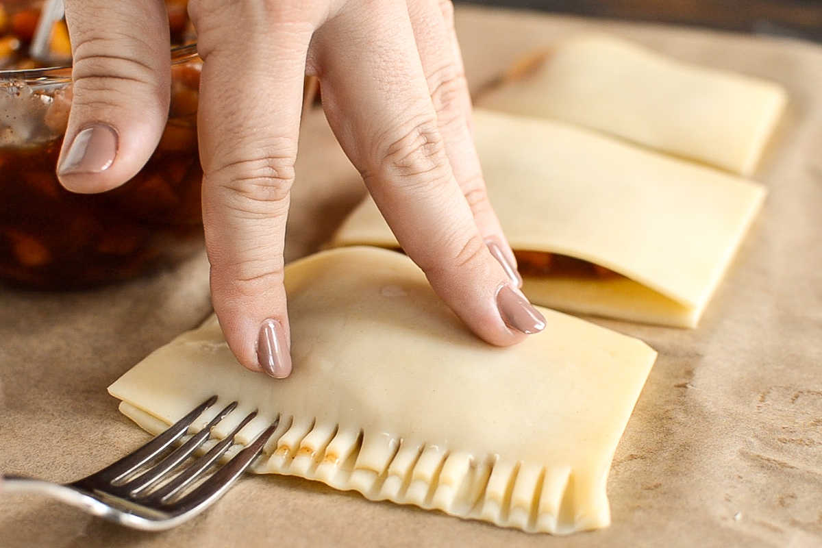
<svg viewBox="0 0 822 548">
<path fill-rule="evenodd" d="M 543 310 L 524 343 L 483 343 L 405 256 L 324 251 L 286 269 L 293 374 L 239 366 L 214 318 L 128 371 L 109 392 L 150 431 L 218 394 L 252 439 L 278 431 L 256 472 L 324 481 L 529 532 L 604 527 L 606 479 L 656 352 Z"/>
</svg>

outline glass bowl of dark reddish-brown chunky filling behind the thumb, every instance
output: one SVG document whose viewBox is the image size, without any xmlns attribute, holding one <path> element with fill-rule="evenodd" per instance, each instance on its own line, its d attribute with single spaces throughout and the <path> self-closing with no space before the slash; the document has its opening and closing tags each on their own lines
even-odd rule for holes
<svg viewBox="0 0 822 548">
<path fill-rule="evenodd" d="M 201 60 L 185 3 L 166 4 L 175 44 L 169 120 L 159 145 L 122 187 L 81 195 L 63 189 L 55 174 L 72 99 L 65 23 L 54 23 L 49 62 L 35 61 L 27 52 L 43 2 L 0 3 L 0 283 L 92 288 L 202 249 Z"/>
</svg>

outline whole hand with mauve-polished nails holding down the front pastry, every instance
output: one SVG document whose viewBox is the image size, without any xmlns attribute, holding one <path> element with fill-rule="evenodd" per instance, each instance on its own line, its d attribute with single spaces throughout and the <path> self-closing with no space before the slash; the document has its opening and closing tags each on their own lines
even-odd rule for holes
<svg viewBox="0 0 822 548">
<path fill-rule="evenodd" d="M 162 0 L 66 0 L 66 13 L 74 97 L 58 174 L 69 190 L 106 191 L 163 131 L 167 16 Z M 190 0 L 189 13 L 212 300 L 243 366 L 291 371 L 283 248 L 304 74 L 399 243 L 464 323 L 496 345 L 543 329 L 488 203 L 450 0 Z"/>
</svg>

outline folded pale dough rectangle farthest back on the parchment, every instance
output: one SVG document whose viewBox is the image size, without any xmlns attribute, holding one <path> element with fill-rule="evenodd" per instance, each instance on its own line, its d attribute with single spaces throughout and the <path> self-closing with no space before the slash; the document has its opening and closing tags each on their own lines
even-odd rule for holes
<svg viewBox="0 0 822 548">
<path fill-rule="evenodd" d="M 697 67 L 610 35 L 535 55 L 478 106 L 579 124 L 750 175 L 783 108 L 782 86 Z"/>
</svg>

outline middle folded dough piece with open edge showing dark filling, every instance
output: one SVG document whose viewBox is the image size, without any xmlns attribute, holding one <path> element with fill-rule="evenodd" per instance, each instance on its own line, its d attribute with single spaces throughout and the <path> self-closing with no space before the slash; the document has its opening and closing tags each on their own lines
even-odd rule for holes
<svg viewBox="0 0 822 548">
<path fill-rule="evenodd" d="M 575 313 L 695 327 L 764 200 L 762 185 L 579 127 L 477 109 L 488 195 L 515 252 L 621 276 L 533 276 L 532 302 Z M 368 198 L 331 245 L 397 247 Z"/>
</svg>

